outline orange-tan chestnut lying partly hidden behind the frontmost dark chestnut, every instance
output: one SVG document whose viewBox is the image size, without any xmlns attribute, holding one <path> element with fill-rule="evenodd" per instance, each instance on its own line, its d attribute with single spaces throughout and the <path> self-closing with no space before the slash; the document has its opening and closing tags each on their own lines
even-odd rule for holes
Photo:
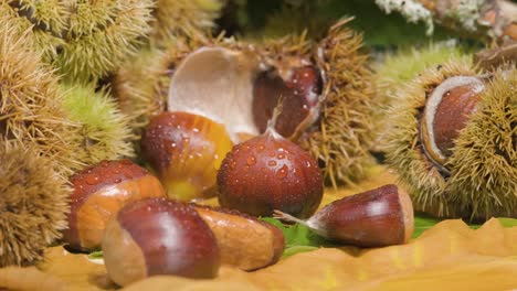
<svg viewBox="0 0 517 291">
<path fill-rule="evenodd" d="M 218 238 L 221 262 L 251 271 L 278 261 L 284 234 L 277 227 L 236 211 L 193 206 Z"/>
</svg>

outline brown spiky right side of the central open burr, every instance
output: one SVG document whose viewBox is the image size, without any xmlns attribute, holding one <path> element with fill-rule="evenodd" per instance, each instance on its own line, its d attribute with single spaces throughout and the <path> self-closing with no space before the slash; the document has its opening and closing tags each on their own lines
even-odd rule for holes
<svg viewBox="0 0 517 291">
<path fill-rule="evenodd" d="M 365 166 L 373 162 L 373 74 L 361 51 L 362 36 L 344 25 L 348 21 L 334 25 L 315 52 L 325 72 L 323 111 L 317 129 L 303 142 L 324 163 L 325 177 L 334 186 L 365 176 Z"/>
</svg>

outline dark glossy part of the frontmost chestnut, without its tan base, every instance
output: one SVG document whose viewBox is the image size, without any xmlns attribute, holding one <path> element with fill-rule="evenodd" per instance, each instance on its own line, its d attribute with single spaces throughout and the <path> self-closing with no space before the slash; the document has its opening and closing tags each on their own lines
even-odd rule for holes
<svg viewBox="0 0 517 291">
<path fill-rule="evenodd" d="M 191 206 L 167 198 L 147 198 L 120 209 L 117 220 L 139 246 L 149 276 L 218 274 L 218 241 Z"/>
</svg>

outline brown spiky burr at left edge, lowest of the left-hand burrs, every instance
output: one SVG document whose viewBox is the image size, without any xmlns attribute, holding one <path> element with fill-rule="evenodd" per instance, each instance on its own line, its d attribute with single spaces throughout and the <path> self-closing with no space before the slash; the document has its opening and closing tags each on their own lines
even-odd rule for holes
<svg viewBox="0 0 517 291">
<path fill-rule="evenodd" d="M 52 161 L 0 140 L 0 267 L 32 265 L 67 226 L 71 188 Z"/>
</svg>

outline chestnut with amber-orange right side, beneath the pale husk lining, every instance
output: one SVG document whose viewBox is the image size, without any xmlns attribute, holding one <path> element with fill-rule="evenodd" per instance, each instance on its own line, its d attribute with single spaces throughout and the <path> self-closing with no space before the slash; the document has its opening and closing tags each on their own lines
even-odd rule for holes
<svg viewBox="0 0 517 291">
<path fill-rule="evenodd" d="M 221 161 L 232 148 L 224 126 L 199 115 L 163 112 L 150 120 L 141 138 L 144 158 L 171 198 L 209 196 Z"/>
</svg>

